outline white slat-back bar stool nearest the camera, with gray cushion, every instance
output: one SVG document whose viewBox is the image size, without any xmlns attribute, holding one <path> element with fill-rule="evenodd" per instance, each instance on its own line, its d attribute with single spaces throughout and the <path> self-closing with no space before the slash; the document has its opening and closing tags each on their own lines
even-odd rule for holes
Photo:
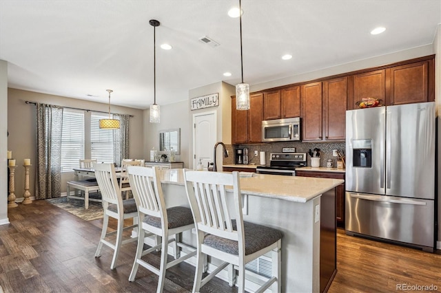
<svg viewBox="0 0 441 293">
<path fill-rule="evenodd" d="M 238 172 L 218 173 L 183 169 L 185 189 L 196 228 L 197 263 L 192 292 L 230 263 L 238 270 L 238 292 L 245 292 L 245 265 L 263 254 L 272 254 L 272 276 L 256 292 L 281 292 L 283 234 L 267 226 L 243 221 Z M 226 189 L 233 187 L 233 192 Z M 224 261 L 202 278 L 203 254 Z M 236 276 L 236 274 L 234 274 Z"/>
</svg>

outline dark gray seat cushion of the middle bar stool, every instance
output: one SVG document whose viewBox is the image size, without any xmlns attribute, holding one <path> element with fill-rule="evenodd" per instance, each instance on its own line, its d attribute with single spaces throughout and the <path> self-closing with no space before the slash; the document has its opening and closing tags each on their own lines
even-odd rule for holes
<svg viewBox="0 0 441 293">
<path fill-rule="evenodd" d="M 192 210 L 185 206 L 174 206 L 167 208 L 168 228 L 178 228 L 193 224 Z M 161 218 L 145 215 L 143 222 L 147 225 L 161 228 Z"/>
</svg>

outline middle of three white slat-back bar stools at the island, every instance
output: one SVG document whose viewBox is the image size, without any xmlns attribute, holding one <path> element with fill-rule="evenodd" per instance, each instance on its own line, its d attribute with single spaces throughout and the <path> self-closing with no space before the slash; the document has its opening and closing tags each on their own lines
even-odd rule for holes
<svg viewBox="0 0 441 293">
<path fill-rule="evenodd" d="M 184 206 L 166 208 L 161 182 L 156 167 L 129 166 L 128 175 L 132 193 L 138 207 L 139 239 L 136 257 L 130 272 L 129 281 L 134 281 L 139 265 L 158 275 L 156 292 L 163 292 L 165 271 L 196 254 L 196 250 L 181 242 L 182 232 L 194 228 L 192 210 Z M 147 235 L 146 235 L 147 233 Z M 161 237 L 161 243 L 152 248 L 143 249 L 144 237 L 156 235 Z M 174 239 L 169 239 L 174 235 Z M 167 263 L 168 244 L 174 242 L 174 261 Z M 161 248 L 161 263 L 159 269 L 141 259 L 145 254 Z M 181 256 L 181 249 L 189 252 Z"/>
</svg>

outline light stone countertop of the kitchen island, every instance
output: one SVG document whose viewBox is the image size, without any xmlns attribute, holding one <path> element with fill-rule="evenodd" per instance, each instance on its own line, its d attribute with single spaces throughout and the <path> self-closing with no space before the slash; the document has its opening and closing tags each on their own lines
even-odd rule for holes
<svg viewBox="0 0 441 293">
<path fill-rule="evenodd" d="M 161 170 L 163 184 L 184 185 L 183 169 Z M 307 202 L 345 182 L 340 179 L 253 174 L 240 177 L 243 194 Z"/>
</svg>

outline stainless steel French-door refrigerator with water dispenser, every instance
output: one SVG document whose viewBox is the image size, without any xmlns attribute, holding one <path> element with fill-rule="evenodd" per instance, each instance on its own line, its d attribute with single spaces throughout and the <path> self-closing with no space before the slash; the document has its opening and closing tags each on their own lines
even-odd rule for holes
<svg viewBox="0 0 441 293">
<path fill-rule="evenodd" d="M 433 252 L 435 102 L 347 111 L 346 133 L 347 234 Z"/>
</svg>

